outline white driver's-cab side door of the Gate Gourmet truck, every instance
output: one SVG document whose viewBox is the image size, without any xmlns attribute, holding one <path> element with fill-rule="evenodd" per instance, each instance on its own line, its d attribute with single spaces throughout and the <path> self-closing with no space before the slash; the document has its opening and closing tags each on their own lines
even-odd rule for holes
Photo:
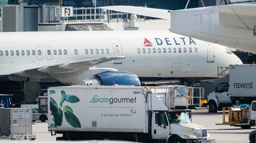
<svg viewBox="0 0 256 143">
<path fill-rule="evenodd" d="M 152 114 L 152 138 L 167 139 L 170 133 L 170 124 L 165 112 L 153 112 Z"/>
</svg>

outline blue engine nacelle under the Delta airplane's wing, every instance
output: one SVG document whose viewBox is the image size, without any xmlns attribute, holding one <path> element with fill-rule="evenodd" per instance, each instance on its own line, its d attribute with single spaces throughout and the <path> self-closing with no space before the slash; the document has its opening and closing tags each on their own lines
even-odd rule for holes
<svg viewBox="0 0 256 143">
<path fill-rule="evenodd" d="M 107 71 L 94 75 L 94 79 L 88 79 L 74 85 L 132 85 L 140 86 L 138 76 L 130 72 Z"/>
</svg>

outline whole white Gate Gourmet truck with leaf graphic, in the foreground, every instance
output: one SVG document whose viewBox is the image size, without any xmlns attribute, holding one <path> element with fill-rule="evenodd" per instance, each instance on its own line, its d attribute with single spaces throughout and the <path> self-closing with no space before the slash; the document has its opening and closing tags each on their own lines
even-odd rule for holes
<svg viewBox="0 0 256 143">
<path fill-rule="evenodd" d="M 57 140 L 216 142 L 190 110 L 169 109 L 144 87 L 49 87 L 48 110 L 48 130 L 63 134 Z"/>
</svg>

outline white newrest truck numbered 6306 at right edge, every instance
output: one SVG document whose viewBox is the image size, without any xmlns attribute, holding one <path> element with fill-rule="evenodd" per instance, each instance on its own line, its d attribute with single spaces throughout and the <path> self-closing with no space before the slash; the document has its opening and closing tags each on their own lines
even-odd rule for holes
<svg viewBox="0 0 256 143">
<path fill-rule="evenodd" d="M 208 96 L 209 112 L 221 111 L 223 107 L 240 104 L 251 104 L 256 99 L 256 64 L 230 65 L 229 84 L 215 89 Z M 224 77 L 225 78 L 225 77 Z"/>
</svg>

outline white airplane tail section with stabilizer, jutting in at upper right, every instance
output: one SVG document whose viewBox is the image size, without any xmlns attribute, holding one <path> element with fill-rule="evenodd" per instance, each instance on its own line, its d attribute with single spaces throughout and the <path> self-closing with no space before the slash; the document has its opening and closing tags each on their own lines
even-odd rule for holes
<svg viewBox="0 0 256 143">
<path fill-rule="evenodd" d="M 256 53 L 256 2 L 230 1 L 233 4 L 174 11 L 134 6 L 101 8 L 169 19 L 173 33 Z"/>
</svg>

